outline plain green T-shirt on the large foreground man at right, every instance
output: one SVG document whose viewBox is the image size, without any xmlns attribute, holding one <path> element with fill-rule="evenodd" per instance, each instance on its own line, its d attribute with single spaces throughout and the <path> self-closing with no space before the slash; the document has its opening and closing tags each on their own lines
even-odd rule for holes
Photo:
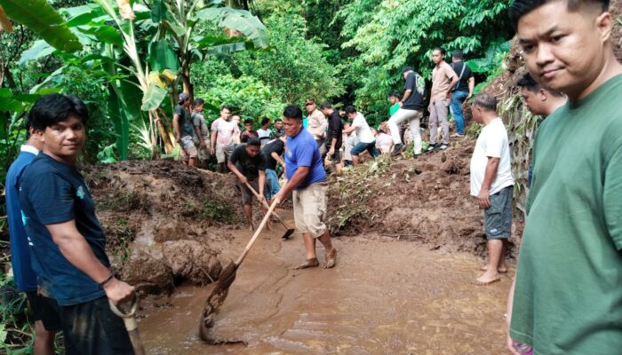
<svg viewBox="0 0 622 355">
<path fill-rule="evenodd" d="M 546 355 L 622 349 L 622 75 L 538 130 L 511 335 Z"/>
</svg>

